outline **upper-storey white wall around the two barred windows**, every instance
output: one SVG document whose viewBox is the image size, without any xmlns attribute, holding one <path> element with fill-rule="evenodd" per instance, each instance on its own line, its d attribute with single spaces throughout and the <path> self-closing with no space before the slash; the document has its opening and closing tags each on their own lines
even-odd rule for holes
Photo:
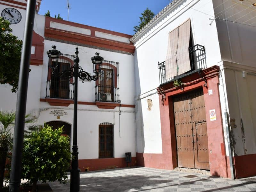
<svg viewBox="0 0 256 192">
<path fill-rule="evenodd" d="M 76 45 L 53 42 L 44 40 L 44 64 L 43 73 L 41 79 L 41 98 L 45 98 L 46 92 L 46 80 L 48 74 L 48 56 L 47 51 L 51 49 L 52 45 L 56 45 L 56 49 L 61 53 L 75 55 Z M 78 57 L 80 59 L 79 66 L 93 75 L 93 65 L 91 57 L 95 55 L 95 52 L 100 52 L 100 56 L 104 60 L 115 61 L 119 64 L 119 93 L 122 104 L 134 105 L 134 67 L 133 67 L 133 55 L 122 54 L 117 52 L 110 52 L 105 50 L 99 50 L 84 46 L 78 46 Z M 95 101 L 95 81 L 78 83 L 78 101 L 94 102 Z"/>
</svg>

